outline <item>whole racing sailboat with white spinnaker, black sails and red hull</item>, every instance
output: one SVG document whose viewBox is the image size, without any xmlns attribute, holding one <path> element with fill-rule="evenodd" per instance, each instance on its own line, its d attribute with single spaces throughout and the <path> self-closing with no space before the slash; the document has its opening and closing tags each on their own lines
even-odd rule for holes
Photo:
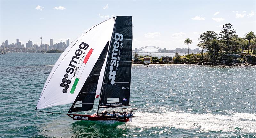
<svg viewBox="0 0 256 138">
<path fill-rule="evenodd" d="M 129 121 L 105 114 L 111 113 L 108 108 L 130 106 L 131 61 L 132 16 L 116 16 L 93 26 L 60 55 L 35 111 L 73 103 L 66 115 L 74 120 Z M 70 114 L 92 110 L 95 98 L 100 98 L 97 113 Z M 99 113 L 100 108 L 105 110 Z"/>
</svg>

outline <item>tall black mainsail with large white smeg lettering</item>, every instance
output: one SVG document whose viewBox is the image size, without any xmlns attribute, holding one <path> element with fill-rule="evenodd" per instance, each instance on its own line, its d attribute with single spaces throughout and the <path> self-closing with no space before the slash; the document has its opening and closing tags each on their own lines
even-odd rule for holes
<svg viewBox="0 0 256 138">
<path fill-rule="evenodd" d="M 131 61 L 132 16 L 116 16 L 99 108 L 130 105 Z"/>
</svg>

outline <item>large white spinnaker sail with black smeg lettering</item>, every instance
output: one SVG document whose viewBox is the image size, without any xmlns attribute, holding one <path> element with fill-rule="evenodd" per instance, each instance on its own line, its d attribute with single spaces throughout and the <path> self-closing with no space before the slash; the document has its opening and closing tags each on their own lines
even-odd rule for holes
<svg viewBox="0 0 256 138">
<path fill-rule="evenodd" d="M 111 35 L 114 27 L 114 21 L 115 21 L 114 18 L 110 18 L 92 27 L 91 29 L 89 29 L 89 31 L 87 31 L 81 37 L 74 40 L 67 47 L 67 49 L 60 55 L 59 59 L 53 66 L 52 71 L 48 76 L 46 83 L 44 84 L 44 88 L 41 92 L 39 101 L 36 105 L 36 109 L 42 109 L 42 108 L 56 106 L 56 105 L 65 105 L 65 104 L 70 104 L 74 102 L 74 100 L 76 99 L 76 96 L 78 95 L 79 91 L 84 85 L 84 82 L 86 81 L 88 75 L 90 74 L 94 64 L 98 60 L 100 53 L 102 52 L 106 43 L 111 39 Z M 79 45 L 82 42 L 89 45 L 89 47 L 86 50 L 79 48 Z M 84 47 L 84 45 L 81 45 L 81 47 Z M 80 67 L 80 65 L 83 63 L 85 56 L 87 55 L 87 53 L 91 48 L 93 49 L 93 52 L 90 55 L 85 65 L 85 68 L 80 70 L 78 68 L 76 70 L 76 68 Z M 66 78 L 67 80 L 71 80 L 71 83 L 68 84 L 69 88 L 67 88 L 67 92 L 63 93 L 64 87 L 61 87 L 60 84 L 62 83 L 62 79 L 64 78 L 64 75 L 67 73 L 66 71 L 68 70 L 67 68 L 68 67 L 72 68 L 71 66 L 69 66 L 69 64 L 72 60 L 72 57 L 76 56 L 75 52 L 78 49 L 82 51 L 82 54 L 80 56 L 77 56 L 79 57 L 79 60 L 74 58 L 74 60 L 77 61 L 76 64 L 72 62 L 72 65 L 75 65 L 75 68 L 73 68 L 74 72 L 71 74 L 69 72 L 68 78 Z M 77 54 L 80 54 L 80 52 L 77 52 Z M 80 64 L 79 64 L 79 61 L 80 61 Z M 82 73 L 80 71 L 82 71 Z M 78 72 L 79 74 L 81 73 L 81 76 L 76 85 L 76 89 L 72 94 L 70 92 Z M 65 82 L 64 84 L 67 84 L 67 82 Z"/>
</svg>

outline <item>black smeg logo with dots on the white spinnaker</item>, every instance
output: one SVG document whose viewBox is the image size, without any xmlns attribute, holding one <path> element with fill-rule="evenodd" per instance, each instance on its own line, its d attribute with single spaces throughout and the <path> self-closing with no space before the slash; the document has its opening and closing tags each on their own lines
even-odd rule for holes
<svg viewBox="0 0 256 138">
<path fill-rule="evenodd" d="M 88 47 L 89 47 L 88 44 L 82 42 L 79 45 L 79 49 L 77 49 L 75 51 L 75 55 L 72 57 L 72 60 L 70 61 L 69 65 L 66 69 L 66 74 L 64 74 L 64 78 L 62 79 L 62 82 L 60 83 L 60 87 L 64 87 L 64 89 L 62 90 L 63 93 L 68 92 L 69 84 L 71 84 L 71 80 L 68 79 L 68 76 L 69 76 L 68 74 L 74 73 L 74 70 L 75 70 L 76 65 L 77 65 L 77 61 L 79 61 L 80 56 L 83 54 L 83 50 L 88 49 Z M 74 73 L 74 75 L 75 75 L 75 73 Z"/>
</svg>

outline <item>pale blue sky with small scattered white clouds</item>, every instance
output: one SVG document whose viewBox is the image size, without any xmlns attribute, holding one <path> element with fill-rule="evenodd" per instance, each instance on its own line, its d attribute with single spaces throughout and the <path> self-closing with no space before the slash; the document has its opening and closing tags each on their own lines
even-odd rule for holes
<svg viewBox="0 0 256 138">
<path fill-rule="evenodd" d="M 256 32 L 256 0 L 251 1 L 22 1 L 0 0 L 0 44 L 70 42 L 112 16 L 133 16 L 133 49 L 198 48 L 205 31 L 220 33 L 231 23 L 236 34 Z"/>
</svg>

